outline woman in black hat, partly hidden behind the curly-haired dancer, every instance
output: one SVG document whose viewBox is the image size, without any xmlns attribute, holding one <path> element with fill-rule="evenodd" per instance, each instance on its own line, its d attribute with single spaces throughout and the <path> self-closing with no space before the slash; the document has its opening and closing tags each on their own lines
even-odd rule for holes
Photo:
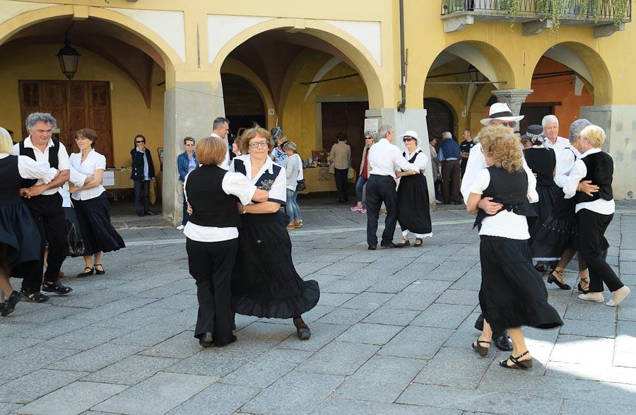
<svg viewBox="0 0 636 415">
<path fill-rule="evenodd" d="M 554 183 L 556 156 L 552 148 L 546 148 L 544 145 L 546 138 L 543 136 L 541 125 L 529 126 L 522 138 L 529 139 L 532 143 L 530 148 L 524 150 L 524 158 L 526 163 L 528 163 L 528 167 L 536 176 L 536 192 L 539 197 L 538 201 L 532 204 L 536 216 L 528 219 L 530 239 L 534 240 L 534 235 L 550 216 L 555 203 L 563 197 L 563 192 L 559 192 L 558 187 Z M 535 262 L 540 264 L 546 262 L 542 252 L 532 252 L 532 254 Z"/>
</svg>

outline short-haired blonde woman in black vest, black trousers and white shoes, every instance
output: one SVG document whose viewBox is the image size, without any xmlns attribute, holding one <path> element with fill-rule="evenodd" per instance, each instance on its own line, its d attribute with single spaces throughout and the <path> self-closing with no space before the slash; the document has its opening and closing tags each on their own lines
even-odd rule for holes
<svg viewBox="0 0 636 415">
<path fill-rule="evenodd" d="M 589 269 L 589 293 L 579 294 L 579 298 L 603 303 L 605 284 L 613 293 L 613 298 L 606 305 L 616 307 L 630 295 L 630 288 L 620 281 L 601 255 L 609 247 L 604 234 L 614 217 L 614 161 L 612 156 L 601 151 L 604 141 L 605 131 L 601 127 L 590 125 L 581 131 L 583 154 L 575 161 L 563 192 L 566 198 L 575 198 L 579 221 L 579 255 Z M 580 182 L 584 180 L 591 180 L 599 187 L 599 191 L 593 194 L 582 192 Z"/>
</svg>

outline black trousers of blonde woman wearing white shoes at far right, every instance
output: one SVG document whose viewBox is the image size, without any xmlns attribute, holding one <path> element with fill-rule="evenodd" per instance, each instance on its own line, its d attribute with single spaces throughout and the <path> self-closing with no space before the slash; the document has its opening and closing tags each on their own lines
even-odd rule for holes
<svg viewBox="0 0 636 415">
<path fill-rule="evenodd" d="M 612 267 L 603 259 L 603 245 L 607 246 L 605 230 L 609 226 L 613 214 L 601 215 L 588 209 L 577 213 L 579 220 L 579 256 L 589 269 L 589 291 L 602 293 L 603 283 L 609 291 L 616 291 L 624 284 L 620 281 Z"/>
</svg>

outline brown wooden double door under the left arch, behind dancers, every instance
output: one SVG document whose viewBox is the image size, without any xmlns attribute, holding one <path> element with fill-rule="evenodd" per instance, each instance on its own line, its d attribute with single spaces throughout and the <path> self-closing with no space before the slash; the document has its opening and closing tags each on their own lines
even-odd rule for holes
<svg viewBox="0 0 636 415">
<path fill-rule="evenodd" d="M 110 88 L 105 81 L 18 81 L 22 134 L 32 112 L 49 112 L 57 120 L 61 144 L 69 153 L 77 153 L 75 142 L 79 129 L 94 129 L 98 135 L 95 150 L 106 157 L 106 165 L 114 167 L 112 155 L 112 122 Z"/>
</svg>

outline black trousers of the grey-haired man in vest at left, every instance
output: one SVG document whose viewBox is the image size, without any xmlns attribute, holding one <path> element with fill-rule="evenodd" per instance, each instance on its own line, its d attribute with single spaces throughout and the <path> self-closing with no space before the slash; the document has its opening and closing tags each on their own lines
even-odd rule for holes
<svg viewBox="0 0 636 415">
<path fill-rule="evenodd" d="M 40 235 L 40 260 L 18 264 L 13 269 L 12 275 L 22 278 L 22 288 L 31 293 L 40 291 L 42 286 L 42 267 L 44 264 L 44 252 L 49 243 L 49 255 L 47 257 L 47 270 L 44 279 L 57 281 L 61 264 L 69 252 L 69 240 L 66 234 L 66 216 L 62 208 L 62 199 L 59 193 L 24 199 L 31 216 L 35 220 Z"/>
</svg>

